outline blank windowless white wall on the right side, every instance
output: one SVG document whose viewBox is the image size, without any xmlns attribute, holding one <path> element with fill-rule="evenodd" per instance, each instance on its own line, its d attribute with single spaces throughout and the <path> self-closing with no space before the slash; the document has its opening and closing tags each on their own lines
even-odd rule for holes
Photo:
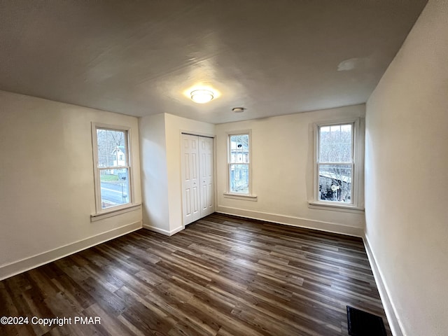
<svg viewBox="0 0 448 336">
<path fill-rule="evenodd" d="M 365 235 L 395 335 L 448 335 L 447 60 L 448 1 L 430 0 L 367 102 Z"/>
</svg>

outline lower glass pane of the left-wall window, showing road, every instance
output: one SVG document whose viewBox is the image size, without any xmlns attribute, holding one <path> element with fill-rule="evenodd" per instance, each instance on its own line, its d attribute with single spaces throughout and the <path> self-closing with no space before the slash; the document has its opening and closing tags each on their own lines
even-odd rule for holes
<svg viewBox="0 0 448 336">
<path fill-rule="evenodd" d="M 130 202 L 129 169 L 100 169 L 101 207 L 116 207 Z"/>
</svg>

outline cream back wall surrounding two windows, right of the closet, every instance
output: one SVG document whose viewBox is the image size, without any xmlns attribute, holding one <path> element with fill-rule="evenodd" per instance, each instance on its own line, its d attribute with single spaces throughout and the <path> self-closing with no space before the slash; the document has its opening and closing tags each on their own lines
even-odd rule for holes
<svg viewBox="0 0 448 336">
<path fill-rule="evenodd" d="M 308 200 L 313 198 L 314 123 L 364 115 L 362 104 L 216 125 L 217 210 L 361 237 L 364 214 L 310 209 Z M 257 202 L 223 195 L 228 191 L 227 134 L 238 130 L 252 132 L 252 191 Z"/>
</svg>

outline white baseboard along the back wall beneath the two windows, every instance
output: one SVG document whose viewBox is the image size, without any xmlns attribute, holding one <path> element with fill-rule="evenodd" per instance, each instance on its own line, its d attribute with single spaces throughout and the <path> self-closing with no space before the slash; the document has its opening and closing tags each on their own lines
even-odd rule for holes
<svg viewBox="0 0 448 336">
<path fill-rule="evenodd" d="M 290 226 L 297 226 L 300 228 L 308 228 L 313 230 L 321 230 L 325 232 L 339 233 L 341 235 L 349 235 L 355 237 L 364 236 L 364 228 L 356 228 L 354 226 L 347 226 L 337 223 L 328 223 L 322 221 L 313 221 L 310 219 L 283 216 L 279 214 L 268 214 L 266 212 L 251 211 L 246 209 L 238 209 L 232 207 L 216 207 L 216 212 L 221 214 L 228 214 L 239 217 L 259 219 L 261 221 L 267 221 L 272 223 L 279 223 Z"/>
</svg>

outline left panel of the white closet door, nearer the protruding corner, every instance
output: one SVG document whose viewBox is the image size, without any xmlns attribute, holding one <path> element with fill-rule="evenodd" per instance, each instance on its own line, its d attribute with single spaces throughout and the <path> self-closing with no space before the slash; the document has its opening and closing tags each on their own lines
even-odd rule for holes
<svg viewBox="0 0 448 336">
<path fill-rule="evenodd" d="M 183 225 L 201 218 L 199 138 L 182 134 L 181 174 Z"/>
</svg>

